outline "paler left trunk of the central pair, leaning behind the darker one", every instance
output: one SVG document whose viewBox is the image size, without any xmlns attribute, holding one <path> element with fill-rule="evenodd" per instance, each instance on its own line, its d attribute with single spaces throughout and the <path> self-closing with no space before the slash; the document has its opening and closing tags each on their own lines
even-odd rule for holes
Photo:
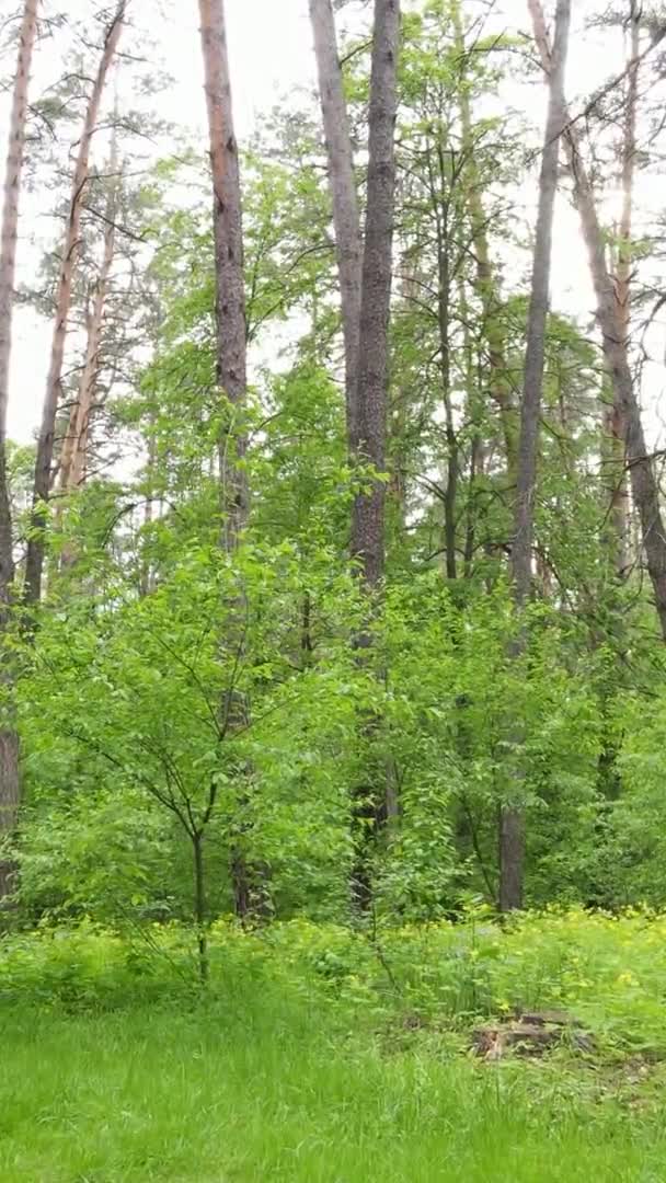
<svg viewBox="0 0 666 1183">
<path fill-rule="evenodd" d="M 362 235 L 358 196 L 354 179 L 354 153 L 337 52 L 331 0 L 310 0 L 310 19 L 319 80 L 319 98 L 326 140 L 329 185 L 332 202 L 337 271 L 344 336 L 347 429 L 356 440 L 355 426 L 361 331 Z"/>
</svg>

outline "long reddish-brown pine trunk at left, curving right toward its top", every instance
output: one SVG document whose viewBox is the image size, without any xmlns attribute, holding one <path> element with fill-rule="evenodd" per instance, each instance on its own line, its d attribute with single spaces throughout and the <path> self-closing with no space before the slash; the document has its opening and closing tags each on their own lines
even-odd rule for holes
<svg viewBox="0 0 666 1183">
<path fill-rule="evenodd" d="M 127 0 L 118 0 L 116 12 L 106 27 L 104 47 L 85 112 L 78 155 L 72 176 L 72 190 L 67 212 L 65 238 L 63 243 L 60 274 L 56 292 L 56 318 L 53 323 L 53 340 L 51 343 L 51 363 L 49 367 L 49 377 L 46 380 L 46 395 L 44 399 L 41 426 L 37 442 L 32 531 L 27 544 L 25 574 L 25 600 L 28 605 L 38 603 L 41 596 L 41 576 L 44 570 L 45 552 L 45 508 L 49 502 L 49 492 L 51 489 L 51 466 L 53 463 L 56 418 L 60 395 L 63 360 L 67 336 L 67 319 L 72 302 L 72 282 L 79 246 L 80 214 L 89 179 L 90 147 L 97 128 L 99 106 L 104 93 L 106 77 L 118 47 L 125 17 L 125 8 Z"/>
</svg>

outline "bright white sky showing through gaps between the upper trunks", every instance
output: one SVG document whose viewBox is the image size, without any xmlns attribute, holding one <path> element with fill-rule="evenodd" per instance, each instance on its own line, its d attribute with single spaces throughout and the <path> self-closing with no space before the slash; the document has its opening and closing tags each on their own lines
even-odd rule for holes
<svg viewBox="0 0 666 1183">
<path fill-rule="evenodd" d="M 0 6 L 7 0 L 0 0 Z M 12 0 L 9 0 L 12 2 Z M 18 4 L 18 0 L 14 0 Z M 98 2 L 98 0 L 97 0 Z M 408 0 L 407 0 L 408 2 Z M 470 0 L 471 7 L 477 0 Z M 67 15 L 76 19 L 91 11 L 91 0 L 43 0 L 45 12 L 66 7 Z M 570 105 L 576 110 L 580 96 L 589 96 L 596 85 L 621 67 L 621 58 L 613 57 L 607 44 L 597 34 L 578 35 L 580 21 L 589 13 L 590 5 L 574 4 L 575 24 L 568 70 Z M 289 96 L 300 88 L 315 84 L 315 62 L 308 17 L 308 0 L 226 0 L 229 60 L 234 95 L 237 132 L 239 140 L 247 138 L 261 119 L 261 114 L 276 102 L 289 103 Z M 364 9 L 367 14 L 367 8 Z M 344 8 L 347 24 L 363 19 L 361 0 L 350 0 Z M 161 62 L 173 83 L 159 98 L 160 114 L 183 130 L 196 142 L 201 138 L 202 151 L 207 148 L 206 109 L 202 90 L 202 65 L 199 44 L 199 20 L 196 0 L 130 0 L 134 31 L 124 34 L 125 51 L 134 49 L 132 39 L 140 44 L 141 31 L 155 41 L 156 60 Z M 367 19 L 367 15 L 366 18 Z M 492 27 L 526 30 L 528 17 L 524 0 L 496 0 Z M 578 22 L 578 28 L 576 27 Z M 595 39 L 596 38 L 596 39 Z M 7 62 L 2 63 L 7 71 Z M 56 52 L 41 52 L 38 57 L 32 93 L 39 93 L 57 77 L 60 62 Z M 525 84 L 518 71 L 512 101 L 535 123 L 535 148 L 538 147 L 539 123 L 545 112 L 545 88 L 538 83 Z M 8 96 L 0 93 L 0 151 L 7 137 Z M 52 240 L 53 222 L 47 216 L 51 209 L 51 193 L 26 195 L 22 205 L 19 241 L 19 282 L 34 276 L 39 263 L 40 244 Z M 518 195 L 522 215 L 530 216 L 536 198 L 536 187 L 529 183 L 526 192 Z M 594 299 L 587 271 L 583 244 L 580 238 L 577 215 L 567 201 L 558 200 L 555 250 L 552 259 L 552 304 L 560 311 L 570 312 L 589 325 Z M 661 331 L 661 330 L 657 330 Z M 40 418 L 41 397 L 46 380 L 51 330 L 34 311 L 19 309 L 15 315 L 14 342 L 11 373 L 9 435 L 20 442 L 33 437 Z M 659 403 L 662 394 L 661 364 L 653 366 L 647 375 L 647 419 L 651 435 L 659 432 Z M 652 426 L 649 426 L 652 425 Z"/>
</svg>

